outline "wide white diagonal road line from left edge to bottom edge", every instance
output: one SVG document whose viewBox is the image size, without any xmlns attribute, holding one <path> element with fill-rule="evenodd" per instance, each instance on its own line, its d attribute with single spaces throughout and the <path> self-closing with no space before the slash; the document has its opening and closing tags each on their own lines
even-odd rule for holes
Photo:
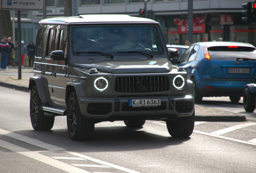
<svg viewBox="0 0 256 173">
<path fill-rule="evenodd" d="M 14 151 L 14 152 L 17 152 L 21 155 L 30 157 L 31 159 L 35 159 L 35 160 L 40 161 L 42 163 L 45 163 L 47 165 L 51 165 L 53 167 L 56 167 L 58 169 L 66 171 L 68 173 L 90 173 L 90 172 L 85 171 L 83 169 L 80 169 L 78 167 L 63 163 L 63 162 L 58 161 L 56 159 L 53 159 L 51 157 L 41 155 L 41 154 L 37 153 L 36 151 L 30 151 L 28 149 L 19 147 L 17 145 L 13 145 L 13 144 L 8 143 L 6 141 L 0 140 L 0 147 L 9 149 L 9 150 Z"/>
</svg>

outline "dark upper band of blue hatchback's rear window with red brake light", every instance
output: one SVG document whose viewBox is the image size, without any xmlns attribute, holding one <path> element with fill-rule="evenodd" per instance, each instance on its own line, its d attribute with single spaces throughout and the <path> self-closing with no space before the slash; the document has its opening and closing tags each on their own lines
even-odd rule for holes
<svg viewBox="0 0 256 173">
<path fill-rule="evenodd" d="M 246 46 L 214 46 L 207 49 L 214 52 L 253 52 L 256 50 L 254 47 Z"/>
</svg>

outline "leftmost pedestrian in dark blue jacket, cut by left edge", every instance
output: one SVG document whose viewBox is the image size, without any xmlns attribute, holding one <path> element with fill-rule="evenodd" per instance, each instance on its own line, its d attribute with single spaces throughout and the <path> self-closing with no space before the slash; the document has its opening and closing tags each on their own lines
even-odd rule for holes
<svg viewBox="0 0 256 173">
<path fill-rule="evenodd" d="M 8 44 L 8 39 L 6 38 L 4 42 L 0 43 L 0 53 L 1 53 L 1 62 L 0 62 L 0 70 L 7 70 L 7 59 L 8 53 L 10 52 L 10 46 Z"/>
</svg>

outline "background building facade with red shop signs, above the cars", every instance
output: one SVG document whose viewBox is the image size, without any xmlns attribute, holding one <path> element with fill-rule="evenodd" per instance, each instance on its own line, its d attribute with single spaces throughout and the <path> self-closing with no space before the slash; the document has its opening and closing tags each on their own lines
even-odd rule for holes
<svg viewBox="0 0 256 173">
<path fill-rule="evenodd" d="M 49 3 L 48 3 L 49 1 Z M 246 0 L 194 0 L 193 42 L 224 41 L 254 43 L 254 25 L 242 22 Z M 128 14 L 139 16 L 144 0 L 78 0 L 77 14 Z M 167 44 L 187 39 L 188 0 L 148 0 L 147 10 L 155 12 Z M 42 18 L 43 11 L 34 11 Z M 64 16 L 64 0 L 47 0 L 47 18 Z"/>
</svg>

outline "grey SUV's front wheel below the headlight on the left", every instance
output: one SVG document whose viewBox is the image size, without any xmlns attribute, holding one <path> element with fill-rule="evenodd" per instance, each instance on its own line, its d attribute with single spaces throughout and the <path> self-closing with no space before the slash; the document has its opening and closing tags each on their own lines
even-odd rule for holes
<svg viewBox="0 0 256 173">
<path fill-rule="evenodd" d="M 75 92 L 68 98 L 67 126 L 68 135 L 74 141 L 89 140 L 93 137 L 95 123 L 82 115 Z"/>
</svg>

